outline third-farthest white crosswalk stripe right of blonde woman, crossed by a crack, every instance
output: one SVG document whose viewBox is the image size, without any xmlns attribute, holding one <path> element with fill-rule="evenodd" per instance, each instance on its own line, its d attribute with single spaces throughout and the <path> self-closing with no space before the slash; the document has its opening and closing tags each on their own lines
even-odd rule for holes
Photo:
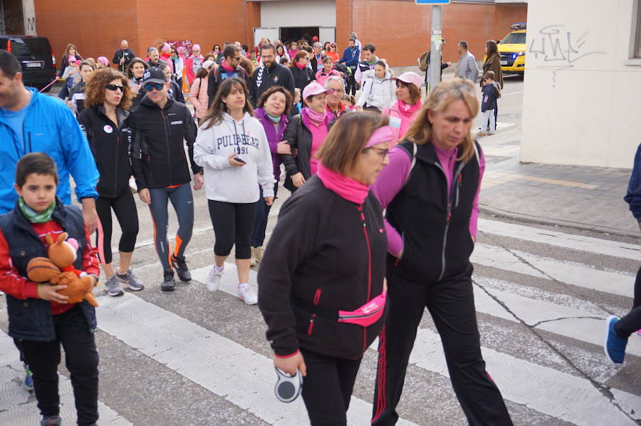
<svg viewBox="0 0 641 426">
<path fill-rule="evenodd" d="M 496 289 L 496 286 L 489 285 L 490 281 L 499 281 L 486 279 L 484 277 L 474 277 L 474 280 L 488 291 L 492 296 L 506 304 L 511 312 L 518 318 L 521 318 L 528 326 L 536 325 L 539 330 L 549 331 L 558 336 L 573 338 L 577 341 L 592 343 L 601 348 L 603 346 L 603 321 L 609 314 L 601 311 L 596 306 L 590 306 L 588 309 L 564 306 L 563 304 L 553 303 L 551 301 L 541 300 L 540 298 L 528 297 L 518 294 L 520 290 L 527 289 L 514 283 L 509 284 L 506 289 Z M 537 289 L 527 289 L 527 291 L 538 291 Z M 546 291 L 540 291 L 542 297 L 551 296 Z M 477 296 L 480 296 L 477 298 Z M 489 299 L 493 303 L 488 303 Z M 491 316 L 504 318 L 506 311 L 503 306 L 496 303 L 493 298 L 489 297 L 484 291 L 474 286 L 474 301 L 476 302 L 476 311 L 486 313 Z M 508 313 L 509 315 L 509 313 Z M 510 315 L 511 316 L 511 315 Z M 511 316 L 514 320 L 514 316 Z M 641 356 L 641 338 L 636 335 L 630 336 L 627 342 L 625 353 L 630 355 Z"/>
</svg>

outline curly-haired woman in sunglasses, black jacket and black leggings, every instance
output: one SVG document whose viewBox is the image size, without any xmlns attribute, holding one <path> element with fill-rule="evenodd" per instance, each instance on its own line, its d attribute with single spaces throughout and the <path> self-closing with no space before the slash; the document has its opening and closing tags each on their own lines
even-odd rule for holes
<svg viewBox="0 0 641 426">
<path fill-rule="evenodd" d="M 100 172 L 98 199 L 95 210 L 102 225 L 98 232 L 98 254 L 107 276 L 106 291 L 109 296 L 122 296 L 123 288 L 142 290 L 142 283 L 133 274 L 130 264 L 138 234 L 136 203 L 129 189 L 131 167 L 129 163 L 129 111 L 132 92 L 123 73 L 112 68 L 93 72 L 85 88 L 86 108 L 78 115 Z M 116 270 L 112 263 L 111 212 L 120 224 L 120 259 Z"/>
</svg>

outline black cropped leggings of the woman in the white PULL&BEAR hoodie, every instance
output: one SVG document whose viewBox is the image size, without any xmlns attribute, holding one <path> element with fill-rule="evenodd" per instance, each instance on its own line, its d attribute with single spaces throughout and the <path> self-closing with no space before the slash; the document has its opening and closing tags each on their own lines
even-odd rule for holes
<svg viewBox="0 0 641 426">
<path fill-rule="evenodd" d="M 260 201 L 260 200 L 259 200 Z M 251 257 L 250 240 L 254 230 L 256 203 L 233 203 L 207 200 L 214 226 L 214 254 L 227 256 L 236 244 L 236 259 Z"/>
</svg>

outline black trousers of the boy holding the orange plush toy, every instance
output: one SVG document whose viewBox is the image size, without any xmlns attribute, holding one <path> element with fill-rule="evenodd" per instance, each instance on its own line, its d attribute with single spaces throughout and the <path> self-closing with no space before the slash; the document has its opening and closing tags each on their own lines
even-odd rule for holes
<svg viewBox="0 0 641 426">
<path fill-rule="evenodd" d="M 98 421 L 98 351 L 93 333 L 89 333 L 80 306 L 53 316 L 53 326 L 56 331 L 54 341 L 16 341 L 33 373 L 38 408 L 43 416 L 60 414 L 58 364 L 62 344 L 67 370 L 71 373 L 78 425 L 94 425 Z"/>
</svg>

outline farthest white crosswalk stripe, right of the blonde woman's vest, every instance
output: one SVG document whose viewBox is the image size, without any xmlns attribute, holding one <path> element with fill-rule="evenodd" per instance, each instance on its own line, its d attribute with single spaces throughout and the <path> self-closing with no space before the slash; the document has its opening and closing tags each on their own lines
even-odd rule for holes
<svg viewBox="0 0 641 426">
<path fill-rule="evenodd" d="M 623 259 L 640 260 L 639 246 L 625 244 L 607 239 L 583 237 L 581 235 L 566 234 L 565 232 L 551 231 L 535 227 L 526 227 L 519 224 L 509 224 L 497 220 L 479 218 L 479 231 L 501 237 L 512 237 L 549 244 L 589 253 L 603 254 L 605 256 L 621 257 Z"/>
</svg>

